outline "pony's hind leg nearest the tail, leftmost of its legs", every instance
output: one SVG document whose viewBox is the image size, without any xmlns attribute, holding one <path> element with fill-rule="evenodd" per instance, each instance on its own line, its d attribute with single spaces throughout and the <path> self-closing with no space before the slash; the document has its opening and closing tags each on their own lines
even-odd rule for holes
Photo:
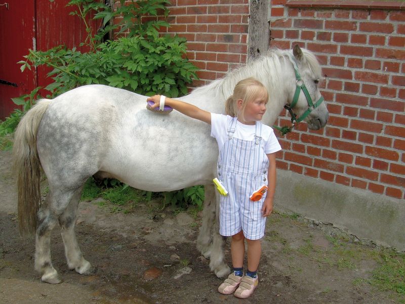
<svg viewBox="0 0 405 304">
<path fill-rule="evenodd" d="M 69 205 L 75 191 L 50 191 L 44 204 L 37 213 L 35 235 L 35 270 L 43 282 L 58 284 L 61 282 L 51 260 L 51 233 L 58 224 L 59 216 Z"/>
</svg>

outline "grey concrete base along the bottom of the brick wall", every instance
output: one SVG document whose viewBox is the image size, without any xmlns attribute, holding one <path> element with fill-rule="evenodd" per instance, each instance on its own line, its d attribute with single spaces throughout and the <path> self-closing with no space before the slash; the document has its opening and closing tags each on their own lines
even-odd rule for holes
<svg viewBox="0 0 405 304">
<path fill-rule="evenodd" d="M 274 207 L 331 223 L 359 239 L 405 251 L 404 201 L 277 170 Z"/>
</svg>

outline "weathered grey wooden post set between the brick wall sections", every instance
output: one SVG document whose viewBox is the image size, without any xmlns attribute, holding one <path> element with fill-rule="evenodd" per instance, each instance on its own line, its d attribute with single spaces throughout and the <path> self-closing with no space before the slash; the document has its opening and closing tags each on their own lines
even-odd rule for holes
<svg viewBox="0 0 405 304">
<path fill-rule="evenodd" d="M 249 1 L 248 61 L 266 54 L 270 44 L 270 25 L 267 21 L 269 0 Z"/>
</svg>

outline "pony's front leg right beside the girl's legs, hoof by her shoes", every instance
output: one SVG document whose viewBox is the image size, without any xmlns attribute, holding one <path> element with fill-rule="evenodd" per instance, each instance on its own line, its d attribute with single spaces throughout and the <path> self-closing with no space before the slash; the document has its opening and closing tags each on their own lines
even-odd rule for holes
<svg viewBox="0 0 405 304">
<path fill-rule="evenodd" d="M 226 237 L 223 237 L 219 234 L 219 201 L 220 201 L 220 194 L 215 192 L 216 200 L 215 200 L 215 229 L 213 231 L 213 244 L 211 250 L 211 258 L 210 258 L 210 269 L 215 273 L 218 278 L 223 278 L 229 275 L 230 268 L 224 262 L 224 246 Z"/>
</svg>

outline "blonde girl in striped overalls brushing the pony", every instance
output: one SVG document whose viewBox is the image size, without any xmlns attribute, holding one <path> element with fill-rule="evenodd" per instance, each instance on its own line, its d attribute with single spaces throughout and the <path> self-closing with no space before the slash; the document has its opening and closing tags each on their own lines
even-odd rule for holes
<svg viewBox="0 0 405 304">
<path fill-rule="evenodd" d="M 159 106 L 160 95 L 149 97 L 151 108 Z M 257 268 L 261 255 L 266 217 L 273 210 L 276 185 L 275 153 L 281 149 L 273 129 L 260 123 L 268 101 L 266 88 L 256 79 L 237 83 L 226 101 L 227 115 L 210 113 L 194 105 L 166 98 L 166 104 L 181 113 L 211 124 L 211 136 L 218 142 L 218 179 L 228 191 L 220 201 L 220 234 L 232 236 L 233 273 L 218 291 L 238 298 L 249 297 L 258 285 Z M 268 191 L 259 201 L 250 196 L 263 185 Z M 244 276 L 245 240 L 248 269 Z"/>
</svg>

